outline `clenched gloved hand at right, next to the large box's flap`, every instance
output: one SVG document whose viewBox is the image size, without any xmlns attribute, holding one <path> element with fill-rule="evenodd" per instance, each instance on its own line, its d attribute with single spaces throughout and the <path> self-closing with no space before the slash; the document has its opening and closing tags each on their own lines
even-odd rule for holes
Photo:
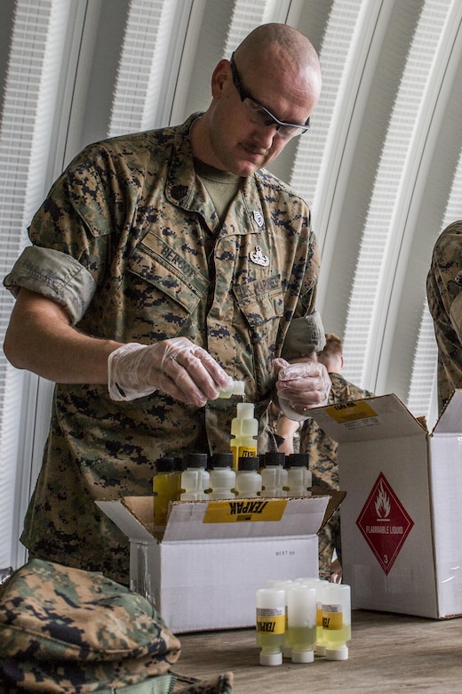
<svg viewBox="0 0 462 694">
<path fill-rule="evenodd" d="M 302 422 L 310 408 L 327 405 L 331 379 L 323 364 L 310 360 L 290 364 L 280 358 L 274 364 L 277 398 L 285 416 Z"/>
</svg>

